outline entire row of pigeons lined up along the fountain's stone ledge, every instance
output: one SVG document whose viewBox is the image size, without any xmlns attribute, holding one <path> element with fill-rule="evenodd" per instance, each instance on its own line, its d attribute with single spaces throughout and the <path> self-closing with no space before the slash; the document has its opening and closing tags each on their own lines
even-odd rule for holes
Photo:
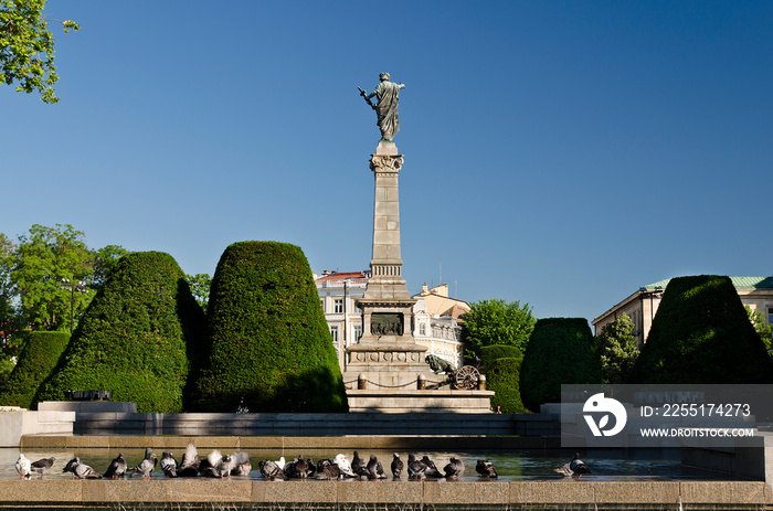
<svg viewBox="0 0 773 511">
<path fill-rule="evenodd" d="M 15 468 L 19 477 L 30 478 L 32 472 L 47 473 L 54 465 L 53 457 L 43 458 L 38 461 L 31 461 L 19 455 Z M 62 469 L 62 472 L 72 472 L 74 479 L 117 479 L 131 477 L 136 473 L 142 478 L 151 478 L 156 466 L 160 465 L 165 477 L 209 477 L 224 478 L 232 476 L 246 477 L 250 476 L 252 464 L 250 455 L 245 451 L 236 451 L 232 455 L 222 455 L 219 450 L 211 451 L 205 458 L 199 458 L 199 453 L 193 444 L 188 444 L 186 453 L 182 455 L 180 462 L 174 459 L 171 453 L 162 453 L 160 464 L 156 454 L 151 448 L 145 449 L 145 458 L 136 467 L 128 467 L 123 454 L 110 461 L 105 473 L 100 475 L 88 465 L 81 462 L 81 458 L 71 459 Z M 370 455 L 366 460 L 360 458 L 354 451 L 354 457 L 350 461 L 346 455 L 339 454 L 332 459 L 321 459 L 316 465 L 310 458 L 298 456 L 293 461 L 285 461 L 282 457 L 276 461 L 264 459 L 258 464 L 261 475 L 268 480 L 286 480 L 286 479 L 359 479 L 374 480 L 385 479 L 386 472 L 375 457 Z M 407 457 L 407 462 L 403 462 L 398 453 L 394 453 L 390 465 L 393 479 L 400 479 L 403 475 L 407 476 L 409 480 L 422 479 L 458 479 L 464 475 L 464 462 L 455 457 L 451 457 L 448 464 L 441 472 L 434 461 L 428 456 L 417 459 L 413 454 Z M 475 471 L 481 478 L 496 479 L 497 471 L 494 465 L 486 460 L 479 459 L 475 466 Z M 564 477 L 581 478 L 585 473 L 591 473 L 591 470 L 580 459 L 580 454 L 575 454 L 574 458 L 554 469 L 555 472 Z"/>
</svg>

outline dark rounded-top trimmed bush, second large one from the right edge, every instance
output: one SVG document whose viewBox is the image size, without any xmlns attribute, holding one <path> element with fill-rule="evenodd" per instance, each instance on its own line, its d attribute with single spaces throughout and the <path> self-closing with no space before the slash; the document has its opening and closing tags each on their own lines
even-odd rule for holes
<svg viewBox="0 0 773 511">
<path fill-rule="evenodd" d="M 538 412 L 561 402 L 562 384 L 602 383 L 601 358 L 584 318 L 540 319 L 521 364 L 521 400 Z"/>
</svg>

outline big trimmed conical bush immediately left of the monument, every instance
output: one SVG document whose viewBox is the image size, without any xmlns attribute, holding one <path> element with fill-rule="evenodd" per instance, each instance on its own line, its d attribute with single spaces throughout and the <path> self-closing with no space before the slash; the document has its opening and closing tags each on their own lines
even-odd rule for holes
<svg viewBox="0 0 773 511">
<path fill-rule="evenodd" d="M 198 408 L 346 412 L 346 390 L 301 249 L 276 242 L 229 246 L 208 306 L 211 356 Z"/>
</svg>

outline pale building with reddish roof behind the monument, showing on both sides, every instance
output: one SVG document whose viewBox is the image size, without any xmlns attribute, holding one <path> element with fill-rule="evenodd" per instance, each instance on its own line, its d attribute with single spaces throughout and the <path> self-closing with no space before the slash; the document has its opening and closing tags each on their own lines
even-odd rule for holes
<svg viewBox="0 0 773 511">
<path fill-rule="evenodd" d="M 362 311 L 357 300 L 366 292 L 370 270 L 329 272 L 314 275 L 319 301 L 327 319 L 338 363 L 343 371 L 347 347 L 359 342 L 362 336 Z M 469 310 L 467 302 L 448 298 L 448 286 L 441 285 L 413 296 L 413 337 L 427 347 L 427 354 L 441 356 L 456 368 L 463 365 L 460 316 Z"/>
</svg>

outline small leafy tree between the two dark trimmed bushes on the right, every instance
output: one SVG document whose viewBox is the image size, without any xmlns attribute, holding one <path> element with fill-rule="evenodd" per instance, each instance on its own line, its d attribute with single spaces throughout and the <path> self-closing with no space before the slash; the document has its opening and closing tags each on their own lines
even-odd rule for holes
<svg viewBox="0 0 773 511">
<path fill-rule="evenodd" d="M 604 383 L 625 383 L 638 356 L 634 322 L 628 315 L 623 313 L 604 324 L 596 342 Z"/>
</svg>

